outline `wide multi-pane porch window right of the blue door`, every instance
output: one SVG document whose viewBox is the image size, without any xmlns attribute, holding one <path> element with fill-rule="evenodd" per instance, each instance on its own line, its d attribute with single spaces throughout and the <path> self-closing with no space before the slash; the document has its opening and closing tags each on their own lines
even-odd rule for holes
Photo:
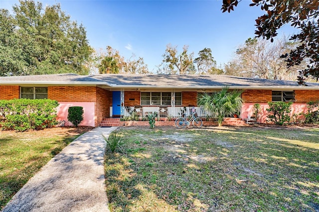
<svg viewBox="0 0 319 212">
<path fill-rule="evenodd" d="M 141 92 L 142 106 L 170 106 L 170 92 Z M 175 105 L 181 105 L 181 92 L 175 93 Z"/>
</svg>

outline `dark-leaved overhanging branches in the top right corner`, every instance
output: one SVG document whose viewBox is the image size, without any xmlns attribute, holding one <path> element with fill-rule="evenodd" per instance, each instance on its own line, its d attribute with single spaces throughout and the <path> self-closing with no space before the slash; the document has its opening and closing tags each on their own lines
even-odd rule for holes
<svg viewBox="0 0 319 212">
<path fill-rule="evenodd" d="M 240 0 L 239 0 L 240 1 Z M 223 0 L 222 11 L 234 10 L 238 0 Z M 260 6 L 266 14 L 256 19 L 257 37 L 274 41 L 277 30 L 285 24 L 300 29 L 291 37 L 301 44 L 282 55 L 287 66 L 300 65 L 307 61 L 308 66 L 299 72 L 298 83 L 305 84 L 308 77 L 319 79 L 319 1 L 318 0 L 253 0 L 250 6 Z"/>
</svg>

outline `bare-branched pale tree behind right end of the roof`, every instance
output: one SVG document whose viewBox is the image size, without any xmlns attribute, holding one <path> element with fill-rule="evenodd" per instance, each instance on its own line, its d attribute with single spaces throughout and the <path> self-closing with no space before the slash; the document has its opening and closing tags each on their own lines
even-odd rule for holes
<svg viewBox="0 0 319 212">
<path fill-rule="evenodd" d="M 280 55 L 298 44 L 286 37 L 271 43 L 267 40 L 248 38 L 236 50 L 235 58 L 225 65 L 229 75 L 273 80 L 294 80 L 297 68 L 286 67 Z M 303 64 L 304 65 L 304 64 Z"/>
</svg>

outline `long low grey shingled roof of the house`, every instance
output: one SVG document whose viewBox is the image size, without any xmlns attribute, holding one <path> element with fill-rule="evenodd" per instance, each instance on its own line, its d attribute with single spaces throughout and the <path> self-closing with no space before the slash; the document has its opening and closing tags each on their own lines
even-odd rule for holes
<svg viewBox="0 0 319 212">
<path fill-rule="evenodd" d="M 266 80 L 227 75 L 52 74 L 0 77 L 0 85 L 98 85 L 109 88 L 292 89 L 319 90 L 319 83 Z"/>
</svg>

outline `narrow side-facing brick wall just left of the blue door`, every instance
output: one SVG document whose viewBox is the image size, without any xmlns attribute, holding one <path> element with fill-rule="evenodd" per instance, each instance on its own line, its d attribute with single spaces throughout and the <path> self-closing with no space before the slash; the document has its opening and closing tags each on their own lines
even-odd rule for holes
<svg viewBox="0 0 319 212">
<path fill-rule="evenodd" d="M 110 117 L 112 92 L 96 87 L 95 126 L 98 126 L 104 117 Z"/>
</svg>

